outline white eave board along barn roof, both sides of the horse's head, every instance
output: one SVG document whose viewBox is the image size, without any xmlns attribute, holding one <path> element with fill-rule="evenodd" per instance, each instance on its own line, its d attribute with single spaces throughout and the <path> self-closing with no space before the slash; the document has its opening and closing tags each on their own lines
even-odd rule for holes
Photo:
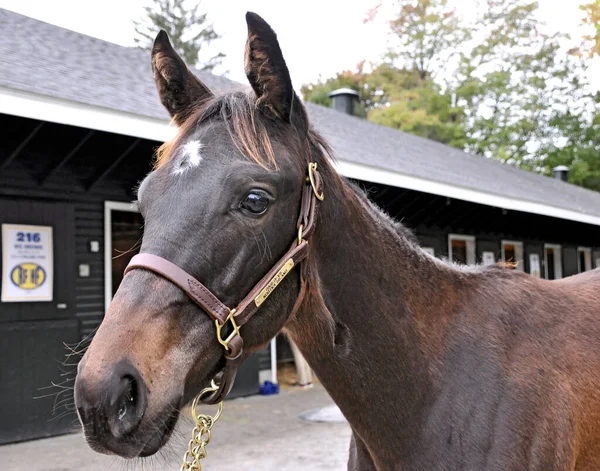
<svg viewBox="0 0 600 471">
<path fill-rule="evenodd" d="M 6 87 L 0 87 L 0 113 L 141 137 L 159 142 L 168 141 L 175 135 L 176 131 L 174 126 L 160 119 Z M 335 166 L 342 175 L 348 178 L 600 226 L 600 217 L 598 216 L 547 204 L 457 187 L 343 159 L 337 159 Z"/>
</svg>

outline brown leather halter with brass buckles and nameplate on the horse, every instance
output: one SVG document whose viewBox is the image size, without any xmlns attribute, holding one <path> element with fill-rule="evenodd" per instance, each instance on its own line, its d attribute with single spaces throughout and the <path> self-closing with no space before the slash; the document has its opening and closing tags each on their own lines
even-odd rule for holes
<svg viewBox="0 0 600 471">
<path fill-rule="evenodd" d="M 127 265 L 124 275 L 135 269 L 149 270 L 179 286 L 193 302 L 215 321 L 217 339 L 225 347 L 225 367 L 221 374 L 218 389 L 210 396 L 202 398 L 202 402 L 205 404 L 216 404 L 225 399 L 233 386 L 237 369 L 242 363 L 244 341 L 240 328 L 252 318 L 279 283 L 298 265 L 300 265 L 300 289 L 290 315 L 295 314 L 300 307 L 306 294 L 307 265 L 303 262 L 308 256 L 307 239 L 315 229 L 317 204 L 323 198 L 322 181 L 317 171 L 317 164 L 310 163 L 308 165 L 308 175 L 302 186 L 297 239 L 235 309 L 227 307 L 200 281 L 162 257 L 140 253 L 134 256 Z M 226 339 L 223 339 L 221 330 L 228 322 L 231 323 L 232 331 Z"/>
</svg>

